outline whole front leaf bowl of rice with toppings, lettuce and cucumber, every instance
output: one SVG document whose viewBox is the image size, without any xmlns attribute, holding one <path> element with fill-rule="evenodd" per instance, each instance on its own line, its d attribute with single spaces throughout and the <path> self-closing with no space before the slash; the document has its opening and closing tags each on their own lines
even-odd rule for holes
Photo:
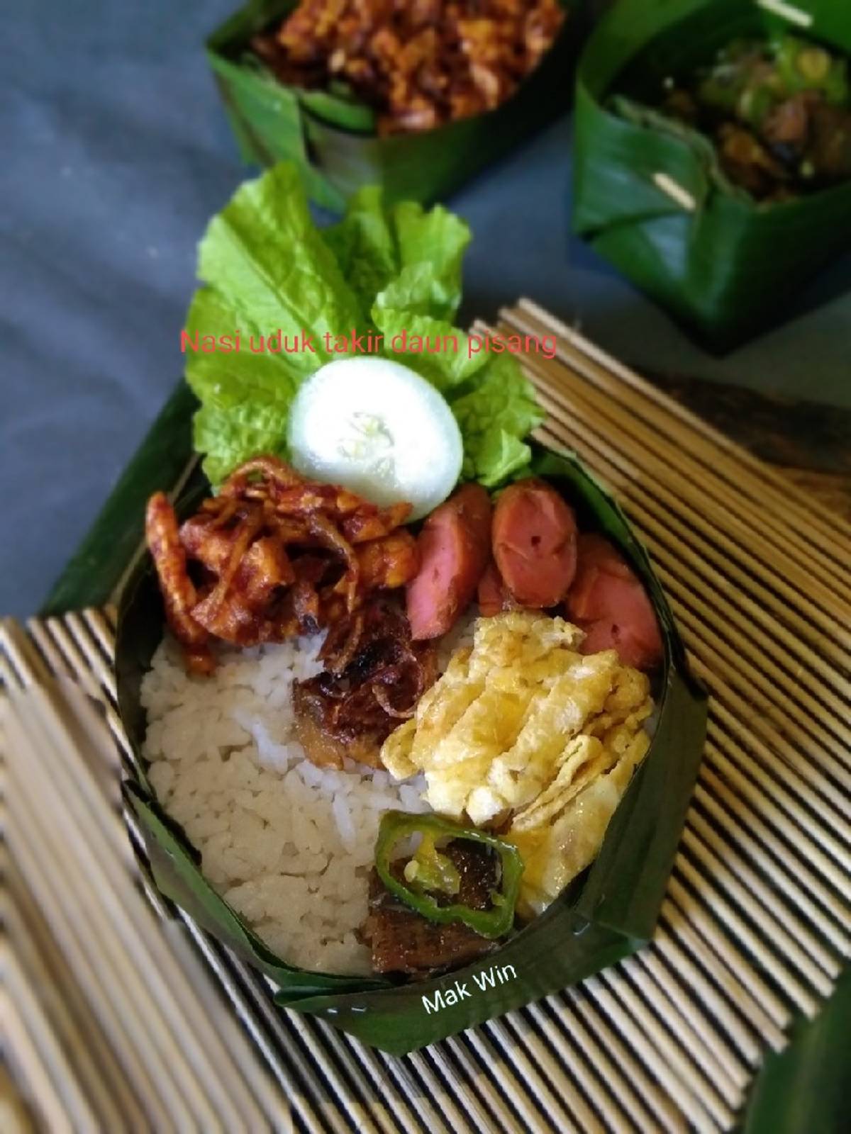
<svg viewBox="0 0 851 1134">
<path fill-rule="evenodd" d="M 530 438 L 540 342 L 454 325 L 469 238 L 237 191 L 182 336 L 202 467 L 119 609 L 157 885 L 391 1051 L 647 940 L 706 716 L 617 505 Z"/>
</svg>

